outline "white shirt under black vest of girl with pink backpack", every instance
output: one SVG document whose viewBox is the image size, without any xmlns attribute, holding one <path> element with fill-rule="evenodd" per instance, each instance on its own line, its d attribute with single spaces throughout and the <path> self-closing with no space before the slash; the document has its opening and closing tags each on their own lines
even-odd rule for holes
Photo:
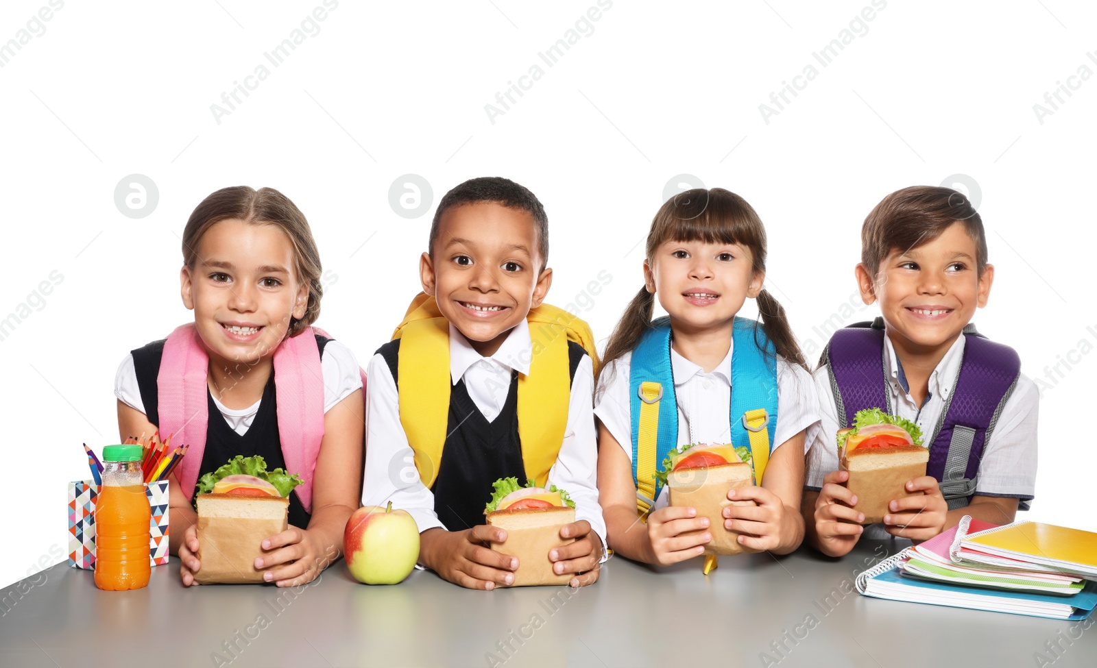
<svg viewBox="0 0 1097 668">
<path fill-rule="evenodd" d="M 324 374 L 324 412 L 331 410 L 332 406 L 346 399 L 355 389 L 362 388 L 362 375 L 359 372 L 358 360 L 354 359 L 354 353 L 339 341 L 328 341 L 324 346 L 324 354 L 320 355 L 320 371 Z M 127 354 L 118 364 L 118 372 L 114 376 L 114 396 L 126 406 L 147 412 L 140 398 L 140 389 L 137 386 L 137 371 L 134 367 L 132 354 Z M 244 435 L 255 421 L 262 400 L 256 401 L 247 408 L 227 408 L 217 400 L 217 397 L 213 398 L 213 403 L 233 431 Z"/>
</svg>

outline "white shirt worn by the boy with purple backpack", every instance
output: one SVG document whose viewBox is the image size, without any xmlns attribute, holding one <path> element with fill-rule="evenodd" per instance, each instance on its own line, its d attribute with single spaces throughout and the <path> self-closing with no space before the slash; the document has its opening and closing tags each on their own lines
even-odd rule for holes
<svg viewBox="0 0 1097 668">
<path fill-rule="evenodd" d="M 945 408 L 945 400 L 960 374 L 965 342 L 966 337 L 959 337 L 929 375 L 929 394 L 919 410 L 911 393 L 904 387 L 906 378 L 902 373 L 903 366 L 895 356 L 895 347 L 892 346 L 891 338 L 884 337 L 884 377 L 887 378 L 892 411 L 901 418 L 916 422 L 921 429 L 926 445 L 931 444 L 936 437 L 934 430 Z M 823 477 L 838 469 L 836 437 L 838 412 L 826 366 L 816 369 L 814 378 L 822 401 L 819 415 L 823 422 L 815 440 L 810 441 L 805 487 L 817 490 L 823 486 Z M 1021 374 L 1017 378 L 1014 393 L 1009 395 L 1002 409 L 989 440 L 983 446 L 975 494 L 1018 498 L 1021 500 L 1021 510 L 1028 510 L 1029 505 L 1026 501 L 1031 500 L 1036 491 L 1036 430 L 1039 401 L 1040 395 L 1036 383 Z M 866 528 L 863 536 L 891 537 L 891 534 L 882 532 L 882 527 L 879 524 Z"/>
</svg>

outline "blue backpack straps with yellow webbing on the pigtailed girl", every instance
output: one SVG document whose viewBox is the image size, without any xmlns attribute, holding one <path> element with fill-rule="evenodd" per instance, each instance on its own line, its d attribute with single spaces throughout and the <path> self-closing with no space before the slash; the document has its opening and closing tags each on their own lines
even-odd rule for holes
<svg viewBox="0 0 1097 668">
<path fill-rule="evenodd" d="M 630 364 L 632 469 L 641 517 L 651 511 L 661 491 L 655 479 L 658 466 L 678 446 L 670 336 L 669 318 L 653 321 L 633 349 Z M 733 445 L 750 449 L 754 477 L 761 484 L 777 431 L 777 350 L 758 324 L 747 318 L 735 318 L 732 340 L 731 440 Z"/>
</svg>

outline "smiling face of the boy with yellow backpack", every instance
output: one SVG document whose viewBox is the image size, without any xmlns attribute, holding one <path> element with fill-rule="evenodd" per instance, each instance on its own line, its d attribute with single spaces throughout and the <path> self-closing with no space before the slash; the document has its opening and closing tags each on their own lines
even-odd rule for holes
<svg viewBox="0 0 1097 668">
<path fill-rule="evenodd" d="M 422 290 L 476 352 L 490 356 L 544 301 L 552 270 L 541 270 L 536 225 L 495 202 L 446 210 L 431 253 L 422 253 Z"/>
</svg>

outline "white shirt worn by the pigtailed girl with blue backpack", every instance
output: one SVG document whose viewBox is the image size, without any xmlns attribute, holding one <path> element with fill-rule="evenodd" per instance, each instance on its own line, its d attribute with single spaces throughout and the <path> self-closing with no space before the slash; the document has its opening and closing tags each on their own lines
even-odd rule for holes
<svg viewBox="0 0 1097 668">
<path fill-rule="evenodd" d="M 678 444 L 730 443 L 732 424 L 728 417 L 732 401 L 732 350 L 711 373 L 670 349 L 670 369 L 675 378 L 678 403 Z M 602 372 L 595 397 L 595 415 L 617 439 L 629 461 L 632 461 L 632 412 L 630 377 L 632 353 L 613 360 Z M 802 366 L 777 359 L 777 430 L 774 451 L 782 443 L 806 429 L 805 446 L 818 430 L 818 397 L 811 375 Z M 655 500 L 655 508 L 669 503 L 666 487 Z"/>
</svg>

